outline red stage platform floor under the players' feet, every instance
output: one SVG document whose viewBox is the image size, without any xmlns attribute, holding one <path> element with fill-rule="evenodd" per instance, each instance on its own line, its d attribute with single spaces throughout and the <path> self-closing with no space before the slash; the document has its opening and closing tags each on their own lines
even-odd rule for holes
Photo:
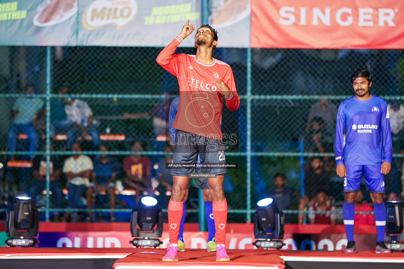
<svg viewBox="0 0 404 269">
<path fill-rule="evenodd" d="M 163 248 L 0 248 L 0 269 L 404 269 L 404 253 L 362 251 L 227 250 L 231 261 L 217 262 L 215 252 L 187 249 L 179 261 L 163 262 Z"/>
</svg>

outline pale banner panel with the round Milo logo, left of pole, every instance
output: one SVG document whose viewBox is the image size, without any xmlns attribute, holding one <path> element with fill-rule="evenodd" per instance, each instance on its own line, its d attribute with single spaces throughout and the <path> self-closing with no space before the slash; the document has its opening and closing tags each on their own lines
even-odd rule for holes
<svg viewBox="0 0 404 269">
<path fill-rule="evenodd" d="M 187 19 L 202 21 L 198 0 L 79 0 L 78 17 L 79 46 L 166 46 Z"/>
</svg>

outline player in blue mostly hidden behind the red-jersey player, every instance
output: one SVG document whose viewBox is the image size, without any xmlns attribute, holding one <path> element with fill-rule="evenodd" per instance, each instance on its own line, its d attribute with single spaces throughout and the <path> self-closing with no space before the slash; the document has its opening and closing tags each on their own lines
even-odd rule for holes
<svg viewBox="0 0 404 269">
<path fill-rule="evenodd" d="M 179 96 L 173 99 L 173 101 L 170 104 L 170 110 L 168 112 L 168 132 L 169 132 L 171 140 L 173 140 L 173 142 L 175 142 L 175 136 L 177 134 L 177 129 L 173 128 L 173 122 L 175 120 L 175 116 L 177 115 L 178 104 L 179 104 Z M 197 163 L 200 163 L 199 154 L 198 154 Z M 196 172 L 199 172 L 199 171 L 196 171 Z M 178 234 L 178 243 L 177 243 L 178 251 L 185 251 L 185 244 L 181 240 L 183 240 L 183 232 L 184 232 L 185 202 L 187 201 L 188 189 L 191 187 L 191 180 L 192 180 L 191 178 L 188 179 L 187 192 L 185 192 L 182 219 L 181 219 L 181 224 L 180 224 L 179 234 Z M 216 243 L 215 243 L 214 237 L 215 237 L 216 229 L 215 229 L 215 220 L 213 219 L 212 195 L 210 194 L 209 181 L 207 178 L 196 178 L 195 186 L 197 188 L 202 189 L 203 200 L 205 202 L 205 208 L 206 208 L 205 216 L 206 216 L 206 222 L 208 224 L 208 252 L 215 252 Z"/>
</svg>

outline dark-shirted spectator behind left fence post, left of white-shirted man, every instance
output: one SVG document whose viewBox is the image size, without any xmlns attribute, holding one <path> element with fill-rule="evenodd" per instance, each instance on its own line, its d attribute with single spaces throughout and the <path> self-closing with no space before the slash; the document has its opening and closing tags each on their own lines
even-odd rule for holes
<svg viewBox="0 0 404 269">
<path fill-rule="evenodd" d="M 43 150 L 46 150 L 44 146 Z M 53 144 L 50 143 L 50 150 L 53 150 Z M 34 169 L 34 177 L 35 181 L 32 183 L 29 188 L 29 196 L 34 198 L 41 193 L 43 190 L 46 190 L 46 156 L 36 155 L 32 165 Z M 61 208 L 62 206 L 62 184 L 60 182 L 60 172 L 62 170 L 62 163 L 58 155 L 50 155 L 50 163 L 49 163 L 49 175 L 50 175 L 50 192 L 52 192 L 52 196 L 55 198 L 54 205 L 56 208 Z M 59 212 L 55 212 L 54 221 L 60 221 Z"/>
</svg>

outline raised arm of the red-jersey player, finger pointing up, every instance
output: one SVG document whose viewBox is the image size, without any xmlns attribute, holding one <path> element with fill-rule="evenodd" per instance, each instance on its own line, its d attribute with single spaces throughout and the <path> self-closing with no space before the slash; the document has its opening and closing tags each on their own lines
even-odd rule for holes
<svg viewBox="0 0 404 269">
<path fill-rule="evenodd" d="M 174 52 L 183 39 L 190 35 L 194 30 L 195 26 L 192 24 L 190 25 L 188 20 L 187 24 L 182 27 L 181 33 L 179 33 L 179 35 L 177 35 L 157 56 L 156 62 L 176 77 L 179 75 L 181 59 L 179 55 L 174 54 Z"/>
</svg>

